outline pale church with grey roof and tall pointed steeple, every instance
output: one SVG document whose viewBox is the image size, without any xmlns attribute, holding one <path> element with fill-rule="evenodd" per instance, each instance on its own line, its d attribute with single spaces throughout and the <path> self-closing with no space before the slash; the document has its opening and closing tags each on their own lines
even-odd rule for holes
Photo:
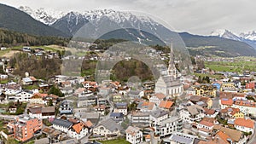
<svg viewBox="0 0 256 144">
<path fill-rule="evenodd" d="M 172 46 L 167 73 L 160 76 L 155 84 L 154 92 L 163 93 L 167 97 L 176 97 L 183 94 L 183 84 L 177 79 Z"/>
</svg>

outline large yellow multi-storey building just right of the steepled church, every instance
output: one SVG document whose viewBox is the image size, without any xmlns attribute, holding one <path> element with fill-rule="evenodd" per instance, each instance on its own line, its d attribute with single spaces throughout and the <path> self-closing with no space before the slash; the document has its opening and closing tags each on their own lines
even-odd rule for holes
<svg viewBox="0 0 256 144">
<path fill-rule="evenodd" d="M 195 89 L 195 95 L 215 97 L 217 93 L 217 87 L 211 84 L 194 85 L 193 89 Z"/>
</svg>

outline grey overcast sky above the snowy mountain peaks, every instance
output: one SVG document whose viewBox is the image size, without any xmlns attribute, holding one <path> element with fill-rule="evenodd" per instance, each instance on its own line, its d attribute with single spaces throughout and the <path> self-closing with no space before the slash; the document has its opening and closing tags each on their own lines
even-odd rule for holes
<svg viewBox="0 0 256 144">
<path fill-rule="evenodd" d="M 152 14 L 177 32 L 209 35 L 216 29 L 239 34 L 256 30 L 255 0 L 0 0 L 14 7 L 84 11 L 132 10 Z"/>
</svg>

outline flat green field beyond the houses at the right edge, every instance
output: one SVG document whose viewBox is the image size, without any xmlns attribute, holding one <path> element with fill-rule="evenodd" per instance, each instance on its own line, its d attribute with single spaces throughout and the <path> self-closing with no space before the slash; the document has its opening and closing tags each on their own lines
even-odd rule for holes
<svg viewBox="0 0 256 144">
<path fill-rule="evenodd" d="M 236 57 L 234 61 L 205 61 L 205 66 L 219 72 L 256 72 L 256 58 Z"/>
</svg>

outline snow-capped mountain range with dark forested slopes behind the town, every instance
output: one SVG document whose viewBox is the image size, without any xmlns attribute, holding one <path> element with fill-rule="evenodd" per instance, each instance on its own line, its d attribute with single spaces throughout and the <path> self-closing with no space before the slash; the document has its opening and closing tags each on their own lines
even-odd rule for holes
<svg viewBox="0 0 256 144">
<path fill-rule="evenodd" d="M 91 38 L 122 38 L 139 43 L 164 44 L 183 41 L 192 55 L 256 56 L 253 48 L 255 32 L 236 36 L 229 31 L 212 32 L 211 36 L 197 36 L 187 32 L 172 32 L 148 16 L 112 9 L 63 13 L 49 9 L 33 10 L 29 7 L 15 9 L 0 4 L 0 27 L 34 35 L 81 37 L 84 32 Z M 15 21 L 15 22 L 14 22 Z M 86 25 L 90 24 L 90 25 Z M 101 35 L 101 34 L 104 35 Z M 107 33 L 107 34 L 106 34 Z M 82 35 L 81 35 L 82 34 Z M 172 39 L 170 38 L 172 37 Z M 180 40 L 181 39 L 181 40 Z M 180 43 L 175 43 L 180 44 Z"/>
</svg>

